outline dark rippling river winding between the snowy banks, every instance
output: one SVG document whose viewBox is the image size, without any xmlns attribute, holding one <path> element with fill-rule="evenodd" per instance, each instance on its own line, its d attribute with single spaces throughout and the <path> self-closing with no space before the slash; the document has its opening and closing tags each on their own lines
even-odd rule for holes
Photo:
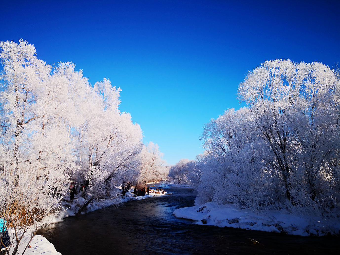
<svg viewBox="0 0 340 255">
<path fill-rule="evenodd" d="M 178 219 L 172 212 L 193 206 L 193 191 L 177 187 L 165 190 L 174 195 L 69 217 L 38 234 L 63 255 L 340 254 L 340 238 L 335 236 L 299 237 L 195 225 L 191 220 Z"/>
</svg>

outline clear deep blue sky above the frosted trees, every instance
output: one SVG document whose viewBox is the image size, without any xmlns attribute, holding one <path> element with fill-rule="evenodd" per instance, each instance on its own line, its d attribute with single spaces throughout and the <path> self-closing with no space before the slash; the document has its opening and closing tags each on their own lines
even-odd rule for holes
<svg viewBox="0 0 340 255">
<path fill-rule="evenodd" d="M 202 153 L 202 126 L 240 107 L 237 87 L 265 60 L 340 61 L 340 1 L 8 1 L 0 40 L 71 61 L 91 84 L 121 87 L 169 164 Z"/>
</svg>

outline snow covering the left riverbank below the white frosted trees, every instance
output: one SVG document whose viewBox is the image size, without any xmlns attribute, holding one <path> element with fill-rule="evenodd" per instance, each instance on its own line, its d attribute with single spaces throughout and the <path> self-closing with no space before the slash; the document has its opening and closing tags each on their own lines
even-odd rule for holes
<svg viewBox="0 0 340 255">
<path fill-rule="evenodd" d="M 151 197 L 156 197 L 156 196 L 161 196 L 161 195 L 165 195 L 168 194 L 167 192 L 163 191 L 163 190 L 155 190 L 155 189 L 150 189 L 149 195 L 145 194 L 145 196 L 137 196 L 136 198 L 134 197 L 134 193 L 133 193 L 133 188 L 130 189 L 129 192 L 126 192 L 126 194 L 124 196 L 118 196 L 117 198 L 107 198 L 107 199 L 100 199 L 98 201 L 93 201 L 91 204 L 89 204 L 86 207 L 86 210 L 84 212 L 82 212 L 82 214 L 88 213 L 90 211 L 95 211 L 95 210 L 99 210 L 108 206 L 112 206 L 112 205 L 120 205 L 123 202 L 128 202 L 131 200 L 141 200 L 141 199 L 146 199 L 146 198 L 151 198 Z M 152 192 L 153 191 L 153 192 Z M 157 193 L 156 193 L 157 192 Z M 121 193 L 121 190 L 119 190 L 118 188 L 116 190 L 114 190 L 114 193 L 118 194 Z M 68 199 L 68 201 L 67 201 Z M 69 197 L 66 197 L 66 201 L 63 201 L 63 212 L 60 214 L 60 217 L 58 218 L 48 218 L 45 220 L 45 223 L 55 223 L 55 222 L 59 222 L 62 221 L 62 219 L 69 217 L 69 216 L 74 216 L 80 206 L 82 206 L 84 204 L 84 199 L 82 197 L 79 198 L 75 198 L 73 200 L 73 203 L 69 202 Z M 13 229 L 9 228 L 8 232 L 11 234 L 11 231 Z M 29 239 L 31 238 L 31 233 L 26 234 L 20 245 L 19 245 L 19 254 L 22 254 L 22 252 L 24 251 Z M 44 255 L 61 255 L 60 252 L 57 252 L 53 246 L 52 243 L 50 243 L 45 237 L 40 236 L 40 235 L 36 235 L 33 237 L 30 246 L 27 248 L 27 250 L 25 251 L 24 255 L 39 255 L 39 254 L 44 254 Z"/>
</svg>

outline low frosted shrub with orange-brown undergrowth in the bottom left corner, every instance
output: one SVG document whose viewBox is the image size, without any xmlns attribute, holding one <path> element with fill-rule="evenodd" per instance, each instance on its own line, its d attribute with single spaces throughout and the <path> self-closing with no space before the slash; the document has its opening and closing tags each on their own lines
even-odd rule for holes
<svg viewBox="0 0 340 255">
<path fill-rule="evenodd" d="M 13 164 L 11 154 L 1 146 L 0 215 L 10 234 L 11 245 L 6 252 L 15 255 L 23 254 L 44 222 L 61 212 L 68 176 L 57 171 L 40 175 L 35 167 L 28 169 L 25 164 Z M 21 253 L 19 245 L 23 246 Z"/>
</svg>

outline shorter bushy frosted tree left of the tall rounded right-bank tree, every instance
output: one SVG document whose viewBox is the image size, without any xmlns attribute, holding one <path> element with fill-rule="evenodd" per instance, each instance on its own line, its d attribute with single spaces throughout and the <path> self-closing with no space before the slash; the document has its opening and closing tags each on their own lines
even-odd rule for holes
<svg viewBox="0 0 340 255">
<path fill-rule="evenodd" d="M 265 180 L 260 174 L 261 141 L 249 117 L 246 108 L 229 109 L 204 126 L 201 140 L 208 153 L 197 160 L 197 167 L 205 173 L 198 190 L 209 183 L 211 200 L 218 203 L 234 203 L 241 208 L 251 203 L 257 208 L 259 199 L 266 195 Z"/>
</svg>

